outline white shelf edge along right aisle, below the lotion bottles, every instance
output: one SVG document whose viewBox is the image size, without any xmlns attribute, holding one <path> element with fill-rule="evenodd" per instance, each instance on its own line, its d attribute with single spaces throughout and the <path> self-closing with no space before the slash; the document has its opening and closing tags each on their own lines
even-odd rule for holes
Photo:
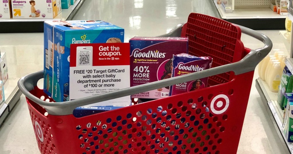
<svg viewBox="0 0 293 154">
<path fill-rule="evenodd" d="M 286 141 L 283 133 L 282 122 L 284 113 L 277 102 L 277 93 L 270 92 L 268 84 L 260 78 L 256 79 L 255 87 L 258 90 L 264 105 L 266 106 L 268 114 L 276 128 L 277 134 L 280 137 L 281 144 L 287 147 L 288 153 L 293 154 L 293 144 Z"/>
</svg>

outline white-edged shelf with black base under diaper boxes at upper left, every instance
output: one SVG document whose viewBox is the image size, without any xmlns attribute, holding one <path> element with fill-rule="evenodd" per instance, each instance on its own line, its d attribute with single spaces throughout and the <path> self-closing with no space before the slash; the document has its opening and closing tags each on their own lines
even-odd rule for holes
<svg viewBox="0 0 293 154">
<path fill-rule="evenodd" d="M 44 32 L 44 21 L 71 20 L 85 0 L 76 0 L 68 9 L 62 9 L 54 19 L 0 19 L 0 33 L 39 33 Z"/>
</svg>

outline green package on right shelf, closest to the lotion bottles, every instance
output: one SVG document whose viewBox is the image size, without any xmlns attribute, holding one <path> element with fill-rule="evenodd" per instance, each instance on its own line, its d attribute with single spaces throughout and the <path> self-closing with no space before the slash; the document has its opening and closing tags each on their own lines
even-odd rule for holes
<svg viewBox="0 0 293 154">
<path fill-rule="evenodd" d="M 287 67 L 284 68 L 282 78 L 281 78 L 281 84 L 278 91 L 278 103 L 280 104 L 282 110 L 284 110 L 283 104 L 285 100 L 285 93 L 286 92 L 292 92 L 293 88 L 293 75 L 289 71 Z"/>
</svg>

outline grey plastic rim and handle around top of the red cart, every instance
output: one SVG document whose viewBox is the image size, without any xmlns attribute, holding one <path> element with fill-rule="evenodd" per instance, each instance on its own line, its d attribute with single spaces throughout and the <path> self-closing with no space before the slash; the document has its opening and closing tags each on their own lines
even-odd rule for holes
<svg viewBox="0 0 293 154">
<path fill-rule="evenodd" d="M 180 36 L 181 28 L 183 24 L 177 25 L 173 28 L 168 34 L 161 35 L 161 36 Z M 58 102 L 58 103 L 50 103 L 46 101 L 42 101 L 40 98 L 35 97 L 33 94 L 30 93 L 31 90 L 37 86 L 38 80 L 43 78 L 43 71 L 35 72 L 29 74 L 25 77 L 22 77 L 18 81 L 18 87 L 23 92 L 23 94 L 30 100 L 34 101 L 35 103 L 39 104 L 40 106 L 44 107 L 48 114 L 50 115 L 69 115 L 72 114 L 73 110 L 76 107 L 89 105 L 101 101 L 106 101 L 110 99 L 115 99 L 119 97 L 129 96 L 132 94 L 137 94 L 141 92 L 150 91 L 153 89 L 158 89 L 161 87 L 167 87 L 175 84 L 180 84 L 183 82 L 192 81 L 195 79 L 201 79 L 204 77 L 209 77 L 213 75 L 218 75 L 225 72 L 233 71 L 235 75 L 239 75 L 242 73 L 253 71 L 256 65 L 270 52 L 272 49 L 272 41 L 265 35 L 251 30 L 249 28 L 239 26 L 243 33 L 246 33 L 260 41 L 262 41 L 265 46 L 256 50 L 251 50 L 242 60 L 239 62 L 234 62 L 227 65 L 222 65 L 219 67 L 210 68 L 207 70 L 203 70 L 200 72 L 190 73 L 188 75 L 182 75 L 178 77 L 172 77 L 169 79 L 164 79 L 156 82 L 151 82 L 147 84 L 142 84 L 135 87 L 125 88 L 121 90 L 117 90 L 114 92 L 108 92 L 96 96 L 75 99 L 72 101 L 66 102 Z"/>
</svg>

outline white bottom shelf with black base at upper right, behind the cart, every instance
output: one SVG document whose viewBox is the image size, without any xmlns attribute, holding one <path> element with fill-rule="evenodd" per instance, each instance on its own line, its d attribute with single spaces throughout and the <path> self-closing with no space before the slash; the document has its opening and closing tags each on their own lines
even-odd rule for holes
<svg viewBox="0 0 293 154">
<path fill-rule="evenodd" d="M 267 8 L 236 8 L 225 12 L 222 5 L 214 3 L 222 19 L 254 30 L 285 29 L 285 18 Z"/>
</svg>

